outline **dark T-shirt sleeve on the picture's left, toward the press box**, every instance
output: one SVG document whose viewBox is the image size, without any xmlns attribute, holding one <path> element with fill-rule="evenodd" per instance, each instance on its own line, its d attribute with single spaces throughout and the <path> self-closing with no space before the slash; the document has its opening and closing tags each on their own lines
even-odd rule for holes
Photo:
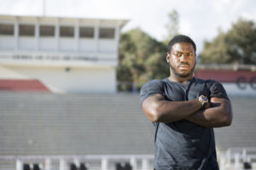
<svg viewBox="0 0 256 170">
<path fill-rule="evenodd" d="M 162 94 L 163 96 L 165 96 L 163 83 L 164 82 L 160 80 L 153 80 L 153 81 L 146 82 L 143 85 L 143 88 L 141 88 L 141 92 L 140 92 L 141 105 L 143 104 L 143 101 L 151 95 Z"/>
</svg>

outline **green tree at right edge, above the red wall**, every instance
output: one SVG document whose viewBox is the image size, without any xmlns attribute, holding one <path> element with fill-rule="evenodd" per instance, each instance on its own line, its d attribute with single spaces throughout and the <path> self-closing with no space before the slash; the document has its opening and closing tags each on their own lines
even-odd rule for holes
<svg viewBox="0 0 256 170">
<path fill-rule="evenodd" d="M 204 42 L 200 59 L 205 64 L 256 64 L 255 23 L 239 19 L 229 31 L 219 31 L 211 42 Z"/>
</svg>

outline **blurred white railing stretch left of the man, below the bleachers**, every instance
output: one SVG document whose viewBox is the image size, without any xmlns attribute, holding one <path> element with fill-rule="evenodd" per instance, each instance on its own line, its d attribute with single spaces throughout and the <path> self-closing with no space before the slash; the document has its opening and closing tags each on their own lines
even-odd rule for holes
<svg viewBox="0 0 256 170">
<path fill-rule="evenodd" d="M 153 155 L 0 156 L 0 170 L 152 170 Z"/>
</svg>

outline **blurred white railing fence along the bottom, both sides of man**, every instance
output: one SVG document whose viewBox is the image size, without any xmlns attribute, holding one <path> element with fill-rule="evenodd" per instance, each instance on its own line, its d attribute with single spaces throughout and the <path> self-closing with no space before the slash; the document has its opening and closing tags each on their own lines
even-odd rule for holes
<svg viewBox="0 0 256 170">
<path fill-rule="evenodd" d="M 220 170 L 256 170 L 256 147 L 218 152 Z M 152 170 L 153 155 L 0 156 L 0 170 Z"/>
</svg>

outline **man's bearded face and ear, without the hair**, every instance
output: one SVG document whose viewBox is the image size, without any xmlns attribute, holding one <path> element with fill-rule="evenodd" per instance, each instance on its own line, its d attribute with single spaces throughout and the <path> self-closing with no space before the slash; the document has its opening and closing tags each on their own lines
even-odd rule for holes
<svg viewBox="0 0 256 170">
<path fill-rule="evenodd" d="M 170 52 L 166 54 L 167 63 L 170 65 L 171 76 L 189 77 L 195 68 L 195 49 L 189 42 L 173 44 Z"/>
</svg>

